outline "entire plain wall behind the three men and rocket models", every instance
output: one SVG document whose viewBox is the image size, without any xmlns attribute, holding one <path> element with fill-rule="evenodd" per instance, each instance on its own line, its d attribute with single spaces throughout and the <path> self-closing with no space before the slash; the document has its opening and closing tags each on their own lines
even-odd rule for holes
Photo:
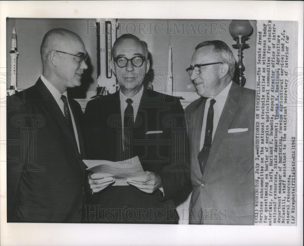
<svg viewBox="0 0 304 246">
<path fill-rule="evenodd" d="M 182 96 L 185 107 L 199 96 L 185 71 L 189 67 L 194 48 L 206 40 L 222 40 L 231 47 L 237 60 L 237 50 L 232 48 L 235 41 L 229 33 L 231 20 L 164 20 L 164 19 L 118 19 L 117 37 L 123 33 L 132 33 L 148 44 L 154 90 L 166 92 L 168 70 L 168 51 L 172 47 L 174 95 Z M 42 73 L 40 44 L 44 34 L 55 27 L 62 27 L 77 33 L 85 43 L 89 54 L 89 68 L 85 71 L 82 86 L 69 93 L 79 98 L 81 106 L 95 95 L 97 84 L 97 54 L 95 19 L 7 19 L 7 68 L 10 70 L 10 46 L 13 26 L 16 28 L 18 44 L 18 77 L 19 90 L 32 86 Z M 255 88 L 256 57 L 256 21 L 250 21 L 254 31 L 247 41 L 250 48 L 244 50 L 243 63 L 246 77 L 245 87 Z M 104 33 L 104 30 L 101 31 Z M 104 34 L 102 34 L 104 35 Z M 101 37 L 103 38 L 103 37 Z"/>
</svg>

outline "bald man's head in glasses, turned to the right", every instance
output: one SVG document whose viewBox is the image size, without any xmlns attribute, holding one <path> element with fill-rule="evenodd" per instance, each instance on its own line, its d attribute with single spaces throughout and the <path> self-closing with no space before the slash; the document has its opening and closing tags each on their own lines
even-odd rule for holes
<svg viewBox="0 0 304 246">
<path fill-rule="evenodd" d="M 81 77 L 88 68 L 85 45 L 69 30 L 55 28 L 48 31 L 40 47 L 42 75 L 62 94 L 68 87 L 81 85 Z"/>
</svg>

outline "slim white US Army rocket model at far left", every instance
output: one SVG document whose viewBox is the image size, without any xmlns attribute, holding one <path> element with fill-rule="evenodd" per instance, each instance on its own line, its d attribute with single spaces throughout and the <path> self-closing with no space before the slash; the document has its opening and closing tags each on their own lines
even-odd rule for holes
<svg viewBox="0 0 304 246">
<path fill-rule="evenodd" d="M 17 35 L 15 26 L 12 32 L 12 48 L 11 51 L 11 81 L 10 81 L 10 87 L 8 90 L 8 95 L 11 96 L 17 92 Z"/>
</svg>

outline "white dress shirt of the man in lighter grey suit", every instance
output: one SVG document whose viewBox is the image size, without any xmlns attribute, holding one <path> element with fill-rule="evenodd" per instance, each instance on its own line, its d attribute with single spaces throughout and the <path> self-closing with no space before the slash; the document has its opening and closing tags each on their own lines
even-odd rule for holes
<svg viewBox="0 0 304 246">
<path fill-rule="evenodd" d="M 213 129 L 212 129 L 212 141 L 216 132 L 217 125 L 219 124 L 219 118 L 221 117 L 221 114 L 223 112 L 223 108 L 225 106 L 228 93 L 230 90 L 230 87 L 232 85 L 232 81 L 222 90 L 216 97 L 214 98 L 208 98 L 205 104 L 205 110 L 204 110 L 204 118 L 203 118 L 203 125 L 202 125 L 202 132 L 201 132 L 201 141 L 199 144 L 199 150 L 202 149 L 204 146 L 204 141 L 205 141 L 205 132 L 206 132 L 206 124 L 207 124 L 207 115 L 208 115 L 208 110 L 210 106 L 210 100 L 214 99 L 216 100 L 215 104 L 213 105 Z"/>
</svg>

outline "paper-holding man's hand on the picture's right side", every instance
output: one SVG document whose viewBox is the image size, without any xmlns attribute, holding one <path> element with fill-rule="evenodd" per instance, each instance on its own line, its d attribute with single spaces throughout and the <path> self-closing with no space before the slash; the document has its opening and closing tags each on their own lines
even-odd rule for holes
<svg viewBox="0 0 304 246">
<path fill-rule="evenodd" d="M 146 193 L 153 193 L 162 187 L 161 177 L 158 174 L 149 171 L 145 171 L 145 173 L 147 176 L 128 178 L 128 184 Z"/>
</svg>

